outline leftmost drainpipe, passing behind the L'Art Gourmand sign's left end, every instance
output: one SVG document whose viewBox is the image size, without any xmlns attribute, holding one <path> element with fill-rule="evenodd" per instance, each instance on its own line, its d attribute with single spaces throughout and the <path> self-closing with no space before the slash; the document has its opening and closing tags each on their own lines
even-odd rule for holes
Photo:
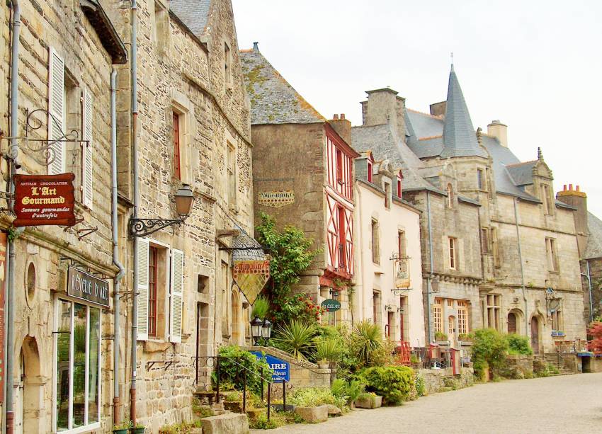
<svg viewBox="0 0 602 434">
<path fill-rule="evenodd" d="M 11 177 L 9 178 L 9 191 L 14 193 L 13 176 L 18 166 L 18 89 L 19 89 L 19 33 L 21 33 L 21 5 L 18 0 L 12 1 L 13 6 L 13 40 L 11 47 Z M 13 200 L 9 200 L 13 209 Z M 15 413 L 13 410 L 13 366 L 15 357 L 14 323 L 15 323 L 15 261 L 16 251 L 14 241 L 8 237 L 8 282 L 6 285 L 6 433 L 13 434 Z"/>
</svg>

